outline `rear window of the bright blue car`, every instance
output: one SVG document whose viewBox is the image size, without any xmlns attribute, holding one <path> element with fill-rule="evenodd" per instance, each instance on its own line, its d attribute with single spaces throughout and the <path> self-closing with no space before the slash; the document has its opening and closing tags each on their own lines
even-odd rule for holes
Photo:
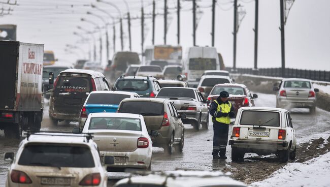
<svg viewBox="0 0 330 187">
<path fill-rule="evenodd" d="M 86 104 L 119 105 L 125 98 L 130 98 L 130 96 L 117 93 L 92 93 Z"/>
</svg>

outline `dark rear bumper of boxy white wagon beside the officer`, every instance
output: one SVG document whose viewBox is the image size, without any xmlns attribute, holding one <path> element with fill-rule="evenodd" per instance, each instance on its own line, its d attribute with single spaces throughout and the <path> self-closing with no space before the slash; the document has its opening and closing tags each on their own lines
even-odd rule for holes
<svg viewBox="0 0 330 187">
<path fill-rule="evenodd" d="M 230 139 L 228 144 L 235 148 L 251 150 L 251 152 L 258 152 L 258 150 L 276 152 L 277 150 L 286 150 L 289 142 Z"/>
</svg>

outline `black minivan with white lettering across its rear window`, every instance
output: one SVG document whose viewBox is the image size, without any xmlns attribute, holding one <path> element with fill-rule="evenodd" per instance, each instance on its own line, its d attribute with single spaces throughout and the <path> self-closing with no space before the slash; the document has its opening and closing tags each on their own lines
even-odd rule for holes
<svg viewBox="0 0 330 187">
<path fill-rule="evenodd" d="M 87 96 L 96 90 L 109 90 L 108 81 L 102 73 L 77 69 L 62 71 L 49 99 L 51 123 L 78 121 Z"/>
</svg>

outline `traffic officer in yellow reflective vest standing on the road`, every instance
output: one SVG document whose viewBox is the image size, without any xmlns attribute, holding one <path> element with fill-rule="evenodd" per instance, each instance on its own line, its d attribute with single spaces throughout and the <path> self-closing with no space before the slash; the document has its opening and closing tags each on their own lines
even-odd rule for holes
<svg viewBox="0 0 330 187">
<path fill-rule="evenodd" d="M 229 93 L 221 91 L 220 96 L 211 103 L 210 114 L 213 116 L 213 159 L 227 159 L 226 146 L 230 118 L 235 117 L 232 103 L 228 101 Z"/>
</svg>

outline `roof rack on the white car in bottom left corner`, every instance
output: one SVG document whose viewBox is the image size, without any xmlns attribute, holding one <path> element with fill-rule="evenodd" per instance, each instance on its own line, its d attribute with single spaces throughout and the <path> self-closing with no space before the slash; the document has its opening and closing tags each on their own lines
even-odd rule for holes
<svg viewBox="0 0 330 187">
<path fill-rule="evenodd" d="M 42 134 L 45 133 L 45 134 Z M 26 135 L 26 140 L 28 141 L 28 138 L 31 135 L 38 135 L 38 136 L 71 136 L 71 137 L 85 137 L 87 142 L 93 138 L 93 133 L 82 133 L 82 134 L 73 134 L 71 132 L 59 132 L 59 131 L 39 131 L 39 132 L 32 132 L 27 131 L 24 133 Z"/>
</svg>

